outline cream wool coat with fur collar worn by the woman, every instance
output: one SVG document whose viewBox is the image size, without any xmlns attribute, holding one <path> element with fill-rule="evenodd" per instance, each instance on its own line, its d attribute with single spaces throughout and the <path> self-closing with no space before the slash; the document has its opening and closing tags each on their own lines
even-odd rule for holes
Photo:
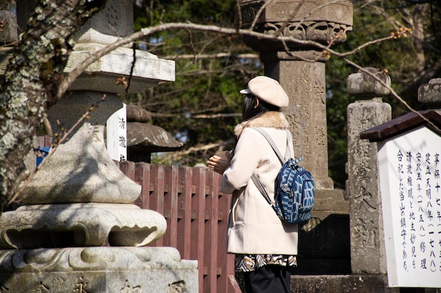
<svg viewBox="0 0 441 293">
<path fill-rule="evenodd" d="M 266 138 L 249 127 L 265 130 L 282 154 L 287 148 L 288 122 L 282 112 L 266 112 L 235 127 L 239 140 L 221 181 L 221 191 L 232 193 L 228 252 L 297 255 L 298 226 L 282 223 L 251 180 L 254 172 L 273 200 L 280 161 Z M 289 148 L 294 156 L 292 141 Z"/>
</svg>

